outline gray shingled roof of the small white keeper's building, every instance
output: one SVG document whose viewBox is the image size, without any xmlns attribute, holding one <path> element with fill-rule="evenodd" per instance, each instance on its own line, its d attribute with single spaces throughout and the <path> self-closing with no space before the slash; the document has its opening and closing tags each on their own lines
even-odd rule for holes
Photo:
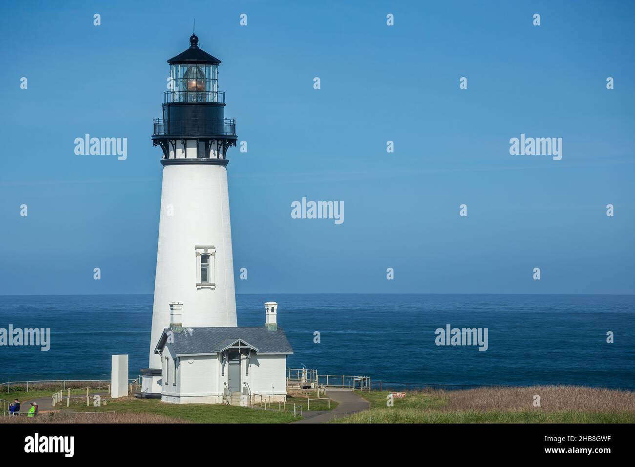
<svg viewBox="0 0 635 467">
<path fill-rule="evenodd" d="M 166 328 L 159 339 L 157 349 L 162 348 L 166 337 Z M 220 327 L 220 328 L 183 328 L 174 332 L 171 344 L 177 355 L 218 352 L 231 346 L 238 339 L 253 346 L 258 353 L 293 353 L 293 348 L 281 328 L 270 331 L 262 327 Z"/>
</svg>

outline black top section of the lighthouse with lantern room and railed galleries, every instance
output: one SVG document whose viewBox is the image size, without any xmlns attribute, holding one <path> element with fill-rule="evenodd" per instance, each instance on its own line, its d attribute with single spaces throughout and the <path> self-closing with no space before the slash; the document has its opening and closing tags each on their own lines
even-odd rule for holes
<svg viewBox="0 0 635 467">
<path fill-rule="evenodd" d="M 225 93 L 218 91 L 220 60 L 198 46 L 170 58 L 170 80 L 163 97 L 163 118 L 154 120 L 154 146 L 161 146 L 161 163 L 227 165 L 225 153 L 236 146 L 236 120 L 225 118 Z"/>
</svg>

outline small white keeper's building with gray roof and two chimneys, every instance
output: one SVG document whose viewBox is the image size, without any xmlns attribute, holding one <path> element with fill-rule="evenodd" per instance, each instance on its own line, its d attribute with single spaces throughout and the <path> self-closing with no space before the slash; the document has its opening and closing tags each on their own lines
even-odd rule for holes
<svg viewBox="0 0 635 467">
<path fill-rule="evenodd" d="M 173 403 L 238 403 L 286 400 L 286 356 L 293 349 L 277 328 L 277 303 L 267 302 L 262 327 L 182 327 L 181 304 L 161 334 L 161 400 Z"/>
</svg>

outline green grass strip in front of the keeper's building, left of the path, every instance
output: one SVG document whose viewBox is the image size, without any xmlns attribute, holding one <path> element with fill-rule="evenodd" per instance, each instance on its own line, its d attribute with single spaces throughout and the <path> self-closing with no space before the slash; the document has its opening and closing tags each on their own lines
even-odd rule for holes
<svg viewBox="0 0 635 467">
<path fill-rule="evenodd" d="M 288 404 L 287 404 L 288 405 Z M 110 400 L 102 407 L 86 407 L 74 404 L 69 409 L 73 412 L 110 412 L 117 414 L 156 414 L 183 420 L 190 423 L 290 423 L 300 420 L 293 418 L 291 412 L 278 412 L 277 404 L 271 410 L 250 409 L 222 404 L 173 404 L 161 402 L 158 399 Z M 287 407 L 288 409 L 288 407 Z"/>
</svg>

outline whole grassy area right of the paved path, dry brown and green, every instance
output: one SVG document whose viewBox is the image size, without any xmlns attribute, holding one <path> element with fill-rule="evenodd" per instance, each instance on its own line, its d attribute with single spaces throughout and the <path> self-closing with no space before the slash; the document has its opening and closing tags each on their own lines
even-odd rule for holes
<svg viewBox="0 0 635 467">
<path fill-rule="evenodd" d="M 335 423 L 635 423 L 635 393 L 576 386 L 364 393 L 371 409 Z M 540 396 L 540 407 L 533 405 Z"/>
</svg>

